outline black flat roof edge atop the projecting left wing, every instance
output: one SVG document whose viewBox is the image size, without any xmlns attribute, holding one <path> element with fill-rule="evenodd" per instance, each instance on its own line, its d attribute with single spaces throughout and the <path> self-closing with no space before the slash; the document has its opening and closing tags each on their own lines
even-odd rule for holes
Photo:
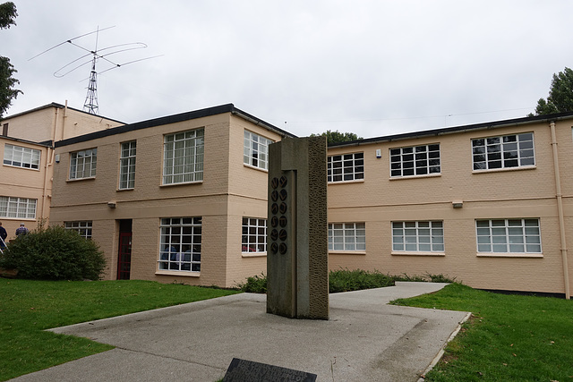
<svg viewBox="0 0 573 382">
<path fill-rule="evenodd" d="M 294 134 L 279 129 L 277 126 L 274 126 L 270 123 L 266 123 L 265 121 L 261 120 L 260 118 L 257 118 L 254 115 L 245 113 L 243 110 L 236 108 L 235 105 L 233 104 L 226 104 L 226 105 L 208 107 L 200 110 L 194 110 L 191 112 L 185 112 L 177 115 L 167 115 L 164 117 L 154 118 L 137 123 L 128 123 L 124 124 L 123 126 L 117 126 L 107 130 L 101 130 L 98 132 L 90 132 L 88 134 L 79 135 L 77 137 L 69 138 L 67 140 L 59 140 L 56 142 L 56 148 L 72 145 L 74 143 L 85 142 L 88 140 L 96 140 L 98 138 L 108 137 L 111 135 L 121 134 L 124 132 L 133 132 L 135 130 L 148 129 L 150 127 L 161 126 L 168 123 L 184 122 L 192 119 L 202 118 L 210 115 L 219 115 L 224 113 L 230 113 L 231 115 L 236 115 L 239 118 L 243 118 L 244 120 L 259 125 L 271 132 L 277 132 L 279 135 L 283 137 L 296 138 Z"/>
</svg>

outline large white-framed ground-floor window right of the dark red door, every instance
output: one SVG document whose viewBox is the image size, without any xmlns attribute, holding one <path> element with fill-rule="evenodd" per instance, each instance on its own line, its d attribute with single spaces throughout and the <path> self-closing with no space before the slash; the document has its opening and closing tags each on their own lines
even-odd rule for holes
<svg viewBox="0 0 573 382">
<path fill-rule="evenodd" d="M 201 271 L 201 217 L 161 219 L 159 269 Z"/>
</svg>

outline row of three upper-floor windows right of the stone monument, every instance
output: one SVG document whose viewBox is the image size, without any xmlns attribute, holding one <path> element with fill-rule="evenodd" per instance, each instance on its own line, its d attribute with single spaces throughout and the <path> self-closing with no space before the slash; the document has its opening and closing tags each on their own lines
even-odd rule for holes
<svg viewBox="0 0 573 382">
<path fill-rule="evenodd" d="M 472 140 L 475 171 L 535 166 L 534 133 Z M 351 182 L 364 178 L 363 153 L 330 156 L 329 182 Z M 441 174 L 440 144 L 389 149 L 390 177 Z"/>
</svg>

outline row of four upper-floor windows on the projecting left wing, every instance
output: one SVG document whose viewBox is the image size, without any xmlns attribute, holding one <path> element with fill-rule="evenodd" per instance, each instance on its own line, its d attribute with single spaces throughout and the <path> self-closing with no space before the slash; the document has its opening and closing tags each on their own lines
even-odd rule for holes
<svg viewBox="0 0 573 382">
<path fill-rule="evenodd" d="M 272 140 L 253 132 L 244 132 L 244 163 L 268 169 L 269 144 Z M 163 184 L 192 183 L 203 180 L 204 130 L 167 134 L 163 139 Z M 137 142 L 121 144 L 119 158 L 119 189 L 135 187 Z M 5 163 L 4 154 L 4 163 Z M 70 154 L 69 179 L 96 176 L 98 149 L 86 149 Z"/>
</svg>

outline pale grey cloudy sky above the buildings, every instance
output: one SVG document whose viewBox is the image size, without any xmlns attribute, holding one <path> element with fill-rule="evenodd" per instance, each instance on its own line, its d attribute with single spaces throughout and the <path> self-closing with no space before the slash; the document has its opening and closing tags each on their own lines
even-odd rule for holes
<svg viewBox="0 0 573 382">
<path fill-rule="evenodd" d="M 573 66 L 569 0 L 13 2 L 0 55 L 24 94 L 6 115 L 81 109 L 90 65 L 54 72 L 84 52 L 66 43 L 30 57 L 110 26 L 98 48 L 148 45 L 115 63 L 161 55 L 98 76 L 99 114 L 125 123 L 233 103 L 299 136 L 376 137 L 525 116 Z M 73 42 L 93 49 L 95 36 Z"/>
</svg>

